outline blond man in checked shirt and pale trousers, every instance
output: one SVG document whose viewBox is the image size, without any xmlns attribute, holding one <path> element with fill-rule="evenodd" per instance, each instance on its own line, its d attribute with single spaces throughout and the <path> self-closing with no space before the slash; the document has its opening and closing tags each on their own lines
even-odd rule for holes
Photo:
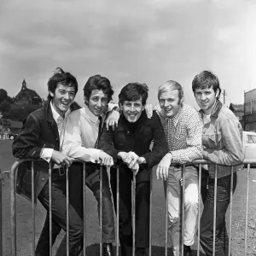
<svg viewBox="0 0 256 256">
<path fill-rule="evenodd" d="M 156 112 L 164 128 L 169 152 L 156 169 L 157 178 L 164 180 L 168 200 L 168 215 L 172 236 L 172 250 L 175 256 L 193 255 L 190 246 L 194 244 L 198 214 L 198 173 L 195 166 L 187 165 L 184 176 L 182 164 L 202 158 L 202 120 L 200 114 L 183 103 L 183 89 L 180 84 L 169 80 L 158 90 L 160 105 Z M 181 247 L 182 185 L 184 191 L 184 232 Z"/>
</svg>

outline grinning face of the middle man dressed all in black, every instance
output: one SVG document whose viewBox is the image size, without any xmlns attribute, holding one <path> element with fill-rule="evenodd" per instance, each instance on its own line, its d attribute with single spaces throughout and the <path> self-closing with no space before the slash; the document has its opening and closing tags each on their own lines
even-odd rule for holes
<svg viewBox="0 0 256 256">
<path fill-rule="evenodd" d="M 134 102 L 125 101 L 123 105 L 120 104 L 120 108 L 123 111 L 125 119 L 130 123 L 135 123 L 142 115 L 145 107 L 143 106 L 142 97 L 140 97 L 139 100 Z"/>
</svg>

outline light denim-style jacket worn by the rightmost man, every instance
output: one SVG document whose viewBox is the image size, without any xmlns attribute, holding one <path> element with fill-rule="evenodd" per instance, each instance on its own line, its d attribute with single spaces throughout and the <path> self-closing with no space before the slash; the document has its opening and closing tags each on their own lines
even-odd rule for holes
<svg viewBox="0 0 256 256">
<path fill-rule="evenodd" d="M 244 160 L 241 137 L 241 124 L 235 114 L 217 100 L 211 121 L 203 127 L 202 143 L 203 158 L 218 164 L 218 177 L 230 175 L 230 166 L 235 166 L 234 172 L 241 168 Z M 210 177 L 214 177 L 214 168 L 214 165 L 208 167 Z"/>
</svg>

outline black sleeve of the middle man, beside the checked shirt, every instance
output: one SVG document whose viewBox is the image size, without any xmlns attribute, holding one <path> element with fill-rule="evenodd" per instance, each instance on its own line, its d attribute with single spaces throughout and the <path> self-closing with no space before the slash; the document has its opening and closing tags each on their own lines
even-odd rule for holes
<svg viewBox="0 0 256 256">
<path fill-rule="evenodd" d="M 145 158 L 148 169 L 152 169 L 152 167 L 157 165 L 168 153 L 168 144 L 166 141 L 165 131 L 160 123 L 160 118 L 157 113 L 154 112 L 152 118 L 148 119 L 148 121 L 151 124 L 154 144 L 152 151 L 147 154 L 143 154 L 142 157 Z"/>
</svg>

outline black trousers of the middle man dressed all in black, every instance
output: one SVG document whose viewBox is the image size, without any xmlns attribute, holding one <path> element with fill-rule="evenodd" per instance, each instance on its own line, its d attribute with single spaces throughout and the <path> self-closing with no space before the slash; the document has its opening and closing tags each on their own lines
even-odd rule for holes
<svg viewBox="0 0 256 256">
<path fill-rule="evenodd" d="M 111 170 L 111 189 L 115 211 L 117 210 L 117 171 Z M 132 249 L 132 217 L 131 217 L 131 181 L 130 170 L 119 169 L 119 241 L 122 256 L 131 256 Z M 136 230 L 135 246 L 149 246 L 149 195 L 150 182 L 136 183 Z"/>
</svg>

